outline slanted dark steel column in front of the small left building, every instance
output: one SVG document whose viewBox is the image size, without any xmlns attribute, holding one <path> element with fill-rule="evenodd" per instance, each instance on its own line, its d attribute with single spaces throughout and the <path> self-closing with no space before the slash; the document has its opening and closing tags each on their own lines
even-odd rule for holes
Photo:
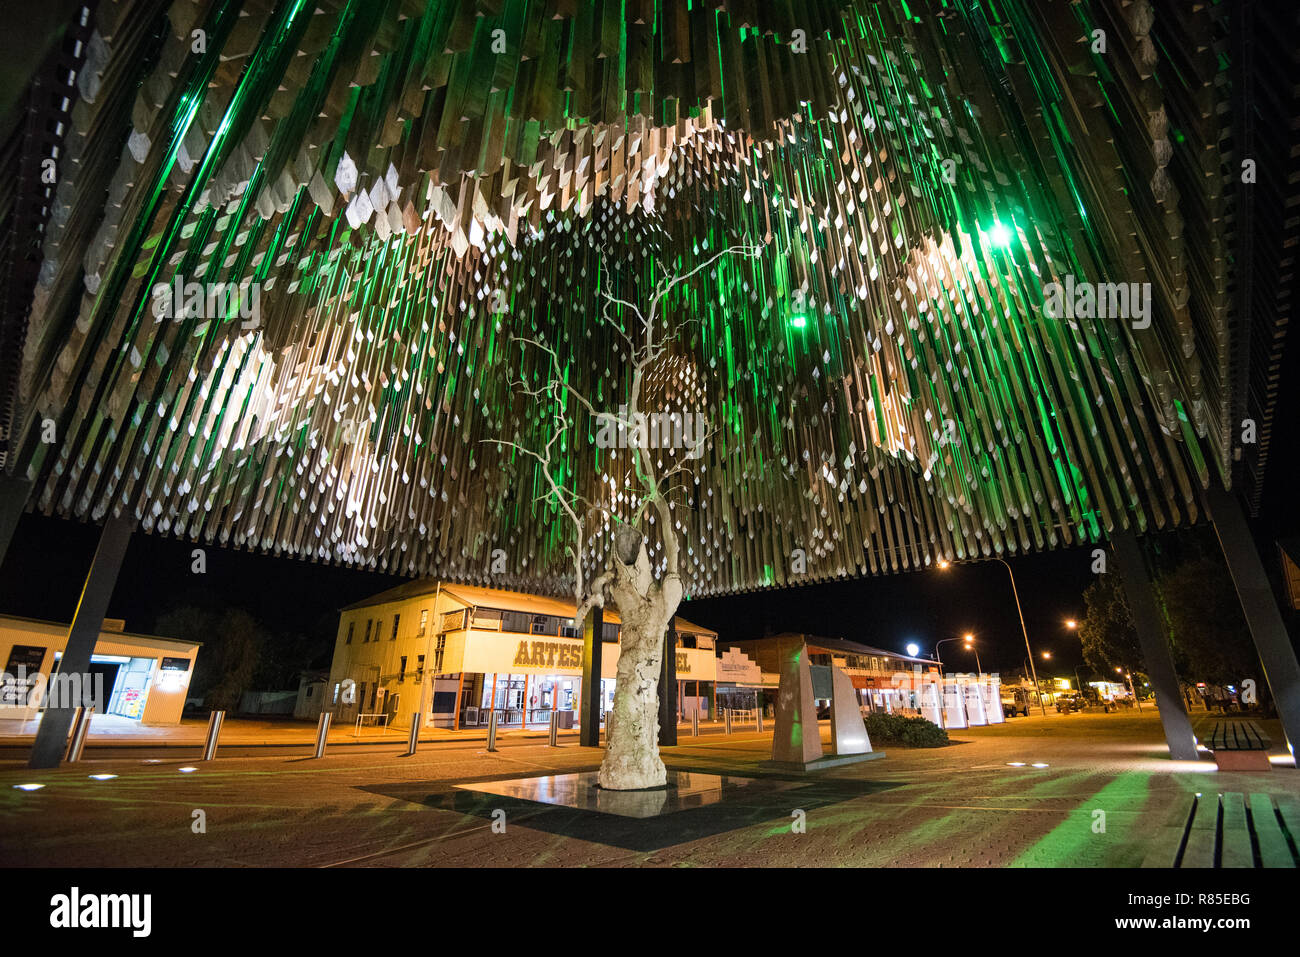
<svg viewBox="0 0 1300 957">
<path fill-rule="evenodd" d="M 104 612 L 113 596 L 113 585 L 117 584 L 117 572 L 122 567 L 122 555 L 131 541 L 134 525 L 130 519 L 112 516 L 104 523 L 99 547 L 95 549 L 95 558 L 86 573 L 86 586 L 77 602 L 77 614 L 68 629 L 68 644 L 58 663 L 60 675 L 69 675 L 75 680 L 78 675 L 90 674 L 90 657 L 104 629 Z M 81 684 L 84 685 L 84 681 Z M 58 767 L 68 748 L 68 731 L 72 728 L 75 703 L 78 702 L 58 701 L 46 709 L 36 728 L 27 767 Z"/>
</svg>

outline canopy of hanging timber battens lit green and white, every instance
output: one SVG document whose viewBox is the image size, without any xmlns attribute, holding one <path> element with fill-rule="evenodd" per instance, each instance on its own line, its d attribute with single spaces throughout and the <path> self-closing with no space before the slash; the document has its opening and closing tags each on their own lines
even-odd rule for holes
<svg viewBox="0 0 1300 957">
<path fill-rule="evenodd" d="M 512 337 L 614 411 L 597 290 L 740 242 L 673 296 L 659 371 L 711 429 L 675 498 L 690 594 L 1175 525 L 1228 476 L 1221 8 L 90 8 L 4 452 L 43 512 L 563 590 L 537 464 L 490 441 L 551 412 Z M 1150 283 L 1149 328 L 1048 316 L 1066 276 Z M 156 315 L 192 281 L 256 317 Z M 580 425 L 563 477 L 625 512 L 625 454 Z"/>
</svg>

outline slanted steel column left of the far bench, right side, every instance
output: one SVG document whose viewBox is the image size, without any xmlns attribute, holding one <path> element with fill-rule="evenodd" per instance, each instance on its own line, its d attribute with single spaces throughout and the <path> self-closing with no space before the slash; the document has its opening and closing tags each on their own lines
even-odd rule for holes
<svg viewBox="0 0 1300 957">
<path fill-rule="evenodd" d="M 1110 537 L 1110 550 L 1119 566 L 1119 576 L 1124 580 L 1128 611 L 1138 631 L 1138 642 L 1147 663 L 1147 676 L 1156 692 L 1160 723 L 1165 726 L 1169 757 L 1174 761 L 1196 761 L 1196 736 L 1192 735 L 1192 722 L 1187 716 L 1187 705 L 1183 703 L 1183 693 L 1178 687 L 1174 657 L 1165 637 L 1160 609 L 1156 607 L 1141 549 L 1131 533 L 1117 531 Z M 1136 701 L 1136 693 L 1134 700 Z"/>
</svg>

